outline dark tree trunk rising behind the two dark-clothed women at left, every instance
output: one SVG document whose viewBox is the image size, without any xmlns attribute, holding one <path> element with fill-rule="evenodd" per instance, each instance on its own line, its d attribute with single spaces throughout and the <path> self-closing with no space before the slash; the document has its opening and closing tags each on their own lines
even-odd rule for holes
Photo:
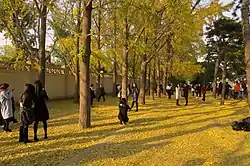
<svg viewBox="0 0 250 166">
<path fill-rule="evenodd" d="M 40 59 L 40 70 L 39 80 L 43 87 L 45 87 L 45 74 L 46 74 L 46 21 L 47 21 L 47 2 L 46 0 L 41 1 L 40 8 L 40 42 L 39 42 L 39 59 Z"/>
</svg>

